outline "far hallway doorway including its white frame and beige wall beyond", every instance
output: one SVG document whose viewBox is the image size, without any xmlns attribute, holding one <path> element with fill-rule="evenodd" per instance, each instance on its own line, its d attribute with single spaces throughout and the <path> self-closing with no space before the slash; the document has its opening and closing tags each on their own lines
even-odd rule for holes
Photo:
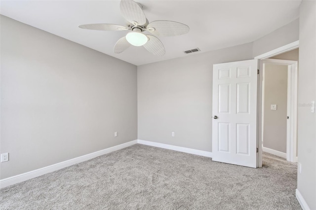
<svg viewBox="0 0 316 210">
<path fill-rule="evenodd" d="M 262 148 L 291 162 L 297 156 L 297 63 L 262 60 Z"/>
</svg>

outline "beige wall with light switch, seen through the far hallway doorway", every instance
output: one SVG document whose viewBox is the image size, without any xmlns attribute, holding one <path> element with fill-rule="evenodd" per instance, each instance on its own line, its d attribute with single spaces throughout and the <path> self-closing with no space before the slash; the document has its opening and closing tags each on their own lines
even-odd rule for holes
<svg viewBox="0 0 316 210">
<path fill-rule="evenodd" d="M 286 153 L 287 66 L 266 64 L 264 74 L 263 146 Z"/>
</svg>

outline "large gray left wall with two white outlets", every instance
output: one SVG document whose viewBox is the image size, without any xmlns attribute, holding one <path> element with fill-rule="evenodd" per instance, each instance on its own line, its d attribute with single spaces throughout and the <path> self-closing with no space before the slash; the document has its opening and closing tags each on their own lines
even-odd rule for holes
<svg viewBox="0 0 316 210">
<path fill-rule="evenodd" d="M 136 66 L 4 16 L 0 41 L 1 179 L 137 139 Z"/>
</svg>

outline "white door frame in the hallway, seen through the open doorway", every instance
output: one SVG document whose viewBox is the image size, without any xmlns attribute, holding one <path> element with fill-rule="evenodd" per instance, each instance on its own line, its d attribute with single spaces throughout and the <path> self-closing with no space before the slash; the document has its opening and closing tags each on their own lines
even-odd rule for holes
<svg viewBox="0 0 316 210">
<path fill-rule="evenodd" d="M 263 70 L 263 90 L 262 107 L 264 107 L 264 85 L 265 85 L 265 64 L 275 64 L 287 66 L 287 111 L 289 119 L 286 120 L 286 160 L 296 162 L 296 144 L 297 144 L 297 61 L 264 59 L 261 60 Z M 262 119 L 264 119 L 264 109 L 262 110 Z M 264 121 L 262 121 L 262 131 L 264 131 Z M 264 139 L 262 132 L 261 139 Z"/>
</svg>

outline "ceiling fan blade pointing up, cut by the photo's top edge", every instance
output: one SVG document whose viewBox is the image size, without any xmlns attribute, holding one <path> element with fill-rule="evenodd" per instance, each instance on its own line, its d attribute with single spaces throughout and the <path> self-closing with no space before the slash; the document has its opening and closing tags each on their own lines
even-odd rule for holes
<svg viewBox="0 0 316 210">
<path fill-rule="evenodd" d="M 141 6 L 133 0 L 121 0 L 119 4 L 120 13 L 130 23 L 134 25 L 144 25 L 146 16 Z"/>
</svg>

